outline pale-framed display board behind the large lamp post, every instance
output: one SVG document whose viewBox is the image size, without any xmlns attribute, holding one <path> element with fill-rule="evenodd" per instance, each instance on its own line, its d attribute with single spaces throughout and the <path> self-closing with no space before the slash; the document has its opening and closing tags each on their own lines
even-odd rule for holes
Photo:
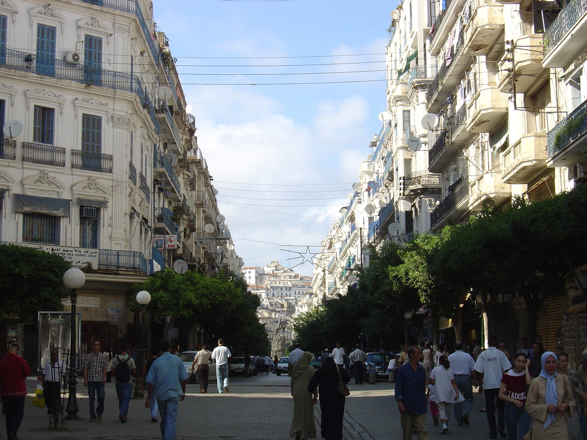
<svg viewBox="0 0 587 440">
<path fill-rule="evenodd" d="M 82 331 L 82 313 L 76 313 L 76 370 L 80 370 L 80 333 Z M 50 350 L 59 350 L 59 360 L 69 366 L 69 349 L 71 341 L 71 313 L 39 312 L 39 368 L 43 368 L 50 359 Z"/>
</svg>

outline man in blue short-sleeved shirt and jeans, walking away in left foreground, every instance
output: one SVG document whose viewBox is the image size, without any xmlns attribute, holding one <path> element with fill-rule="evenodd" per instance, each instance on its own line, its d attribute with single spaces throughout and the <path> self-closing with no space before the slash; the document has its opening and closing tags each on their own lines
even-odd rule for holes
<svg viewBox="0 0 587 440">
<path fill-rule="evenodd" d="M 147 374 L 149 391 L 145 407 L 150 407 L 154 390 L 161 414 L 161 436 L 163 440 L 173 440 L 176 438 L 177 407 L 179 401 L 185 398 L 185 382 L 188 376 L 181 359 L 171 353 L 173 348 L 170 349 L 167 339 L 161 340 L 159 348 L 161 356 L 153 362 Z"/>
</svg>

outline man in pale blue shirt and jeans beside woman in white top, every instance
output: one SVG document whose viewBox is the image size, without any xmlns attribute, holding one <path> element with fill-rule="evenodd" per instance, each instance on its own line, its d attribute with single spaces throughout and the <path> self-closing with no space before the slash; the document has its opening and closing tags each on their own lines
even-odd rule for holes
<svg viewBox="0 0 587 440">
<path fill-rule="evenodd" d="M 457 383 L 458 391 L 465 398 L 464 402 L 454 404 L 454 417 L 458 426 L 469 424 L 469 414 L 473 408 L 473 380 L 471 375 L 475 369 L 475 361 L 470 354 L 463 351 L 463 342 L 454 343 L 454 353 L 448 356 L 450 369 L 454 373 L 454 381 Z"/>
</svg>

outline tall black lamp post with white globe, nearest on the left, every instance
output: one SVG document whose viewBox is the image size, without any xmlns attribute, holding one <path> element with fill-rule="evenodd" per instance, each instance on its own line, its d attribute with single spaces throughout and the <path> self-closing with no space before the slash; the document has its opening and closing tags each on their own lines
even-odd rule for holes
<svg viewBox="0 0 587 440">
<path fill-rule="evenodd" d="M 65 416 L 68 420 L 79 420 L 79 407 L 77 406 L 77 374 L 76 374 L 76 364 L 77 364 L 77 353 L 76 353 L 76 330 L 75 330 L 75 304 L 77 301 L 77 292 L 76 289 L 80 289 L 86 282 L 86 275 L 80 269 L 72 268 L 65 271 L 63 274 L 63 284 L 68 289 L 71 289 L 70 293 L 70 300 L 72 303 L 72 310 L 71 310 L 71 340 L 69 343 L 69 396 L 68 396 L 68 406 L 65 408 L 68 415 Z"/>
</svg>

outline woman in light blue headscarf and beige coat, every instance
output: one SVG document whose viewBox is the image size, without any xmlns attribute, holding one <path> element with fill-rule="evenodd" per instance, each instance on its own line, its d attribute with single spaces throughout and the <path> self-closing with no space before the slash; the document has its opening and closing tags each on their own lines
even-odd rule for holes
<svg viewBox="0 0 587 440">
<path fill-rule="evenodd" d="M 566 439 L 567 419 L 575 407 L 571 383 L 556 371 L 558 358 L 552 351 L 543 353 L 540 361 L 542 371 L 532 380 L 526 400 L 526 412 L 534 418 L 534 424 L 524 439 Z"/>
</svg>

